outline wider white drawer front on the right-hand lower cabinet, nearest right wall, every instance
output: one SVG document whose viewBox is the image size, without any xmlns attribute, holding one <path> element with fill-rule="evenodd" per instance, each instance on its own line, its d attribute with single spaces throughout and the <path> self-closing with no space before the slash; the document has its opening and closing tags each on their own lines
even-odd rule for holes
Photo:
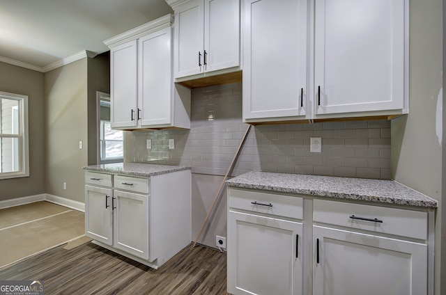
<svg viewBox="0 0 446 295">
<path fill-rule="evenodd" d="M 315 222 L 427 239 L 427 212 L 329 200 L 314 200 L 313 212 Z"/>
</svg>

